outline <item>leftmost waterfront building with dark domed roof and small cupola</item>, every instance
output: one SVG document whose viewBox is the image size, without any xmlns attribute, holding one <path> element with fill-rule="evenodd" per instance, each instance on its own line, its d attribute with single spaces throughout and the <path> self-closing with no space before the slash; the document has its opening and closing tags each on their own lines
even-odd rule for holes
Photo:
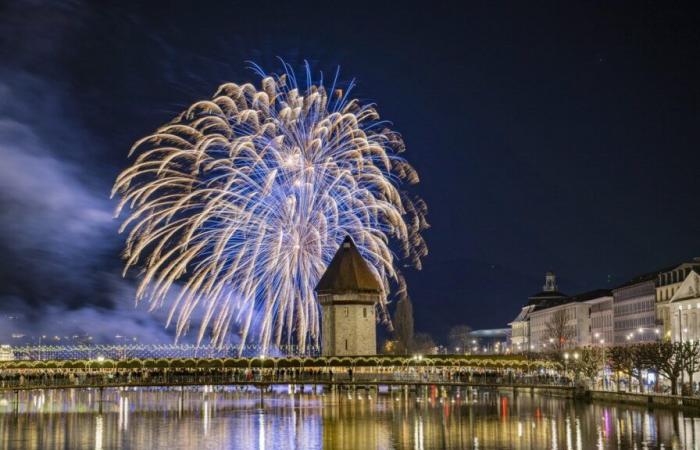
<svg viewBox="0 0 700 450">
<path fill-rule="evenodd" d="M 566 294 L 557 289 L 556 275 L 553 272 L 547 272 L 542 291 L 528 297 L 528 302 L 523 306 L 520 314 L 508 324 L 511 328 L 511 349 L 514 353 L 536 350 L 531 339 L 530 315 L 536 309 L 559 304 L 566 298 Z"/>
</svg>

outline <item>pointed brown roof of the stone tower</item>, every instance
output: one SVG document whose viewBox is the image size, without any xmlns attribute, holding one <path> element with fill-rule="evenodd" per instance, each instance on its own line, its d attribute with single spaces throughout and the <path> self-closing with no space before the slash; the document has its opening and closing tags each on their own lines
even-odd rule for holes
<svg viewBox="0 0 700 450">
<path fill-rule="evenodd" d="M 316 285 L 316 292 L 340 294 L 344 292 L 382 292 L 382 285 L 374 276 L 367 261 L 360 255 L 355 243 L 347 236 Z"/>
</svg>

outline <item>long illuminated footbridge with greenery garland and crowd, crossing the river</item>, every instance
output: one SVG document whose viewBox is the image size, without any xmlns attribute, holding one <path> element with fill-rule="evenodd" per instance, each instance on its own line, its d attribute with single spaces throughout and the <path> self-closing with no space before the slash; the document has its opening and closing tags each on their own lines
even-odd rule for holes
<svg viewBox="0 0 700 450">
<path fill-rule="evenodd" d="M 2 361 L 0 390 L 255 386 L 472 386 L 571 390 L 561 367 L 518 356 Z"/>
</svg>

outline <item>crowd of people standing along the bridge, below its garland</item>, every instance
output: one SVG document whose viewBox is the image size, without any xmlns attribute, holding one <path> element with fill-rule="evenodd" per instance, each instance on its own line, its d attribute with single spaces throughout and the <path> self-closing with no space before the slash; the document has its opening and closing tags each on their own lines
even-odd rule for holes
<svg viewBox="0 0 700 450">
<path fill-rule="evenodd" d="M 444 383 L 566 385 L 555 371 L 473 367 L 39 368 L 0 370 L 0 388 L 214 384 Z"/>
</svg>

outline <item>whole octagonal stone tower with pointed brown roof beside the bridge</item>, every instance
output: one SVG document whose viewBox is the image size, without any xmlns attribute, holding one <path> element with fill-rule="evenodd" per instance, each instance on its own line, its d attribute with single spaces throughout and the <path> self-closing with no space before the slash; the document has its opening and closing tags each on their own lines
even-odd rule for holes
<svg viewBox="0 0 700 450">
<path fill-rule="evenodd" d="M 321 304 L 321 354 L 375 355 L 375 305 L 383 289 L 350 236 L 328 265 L 316 293 Z"/>
</svg>

